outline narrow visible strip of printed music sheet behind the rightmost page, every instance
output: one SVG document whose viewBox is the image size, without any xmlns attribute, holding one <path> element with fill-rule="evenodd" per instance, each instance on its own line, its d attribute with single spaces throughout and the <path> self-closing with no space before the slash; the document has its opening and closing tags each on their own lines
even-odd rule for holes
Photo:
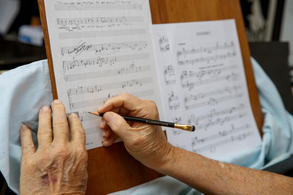
<svg viewBox="0 0 293 195">
<path fill-rule="evenodd" d="M 158 81 L 160 83 L 162 109 L 165 116 L 164 120 L 181 124 L 181 109 L 167 32 L 165 25 L 153 26 L 153 46 L 156 57 Z M 177 147 L 186 148 L 184 142 L 185 134 L 182 130 L 168 127 L 164 127 L 163 129 L 166 130 L 170 143 Z"/>
</svg>

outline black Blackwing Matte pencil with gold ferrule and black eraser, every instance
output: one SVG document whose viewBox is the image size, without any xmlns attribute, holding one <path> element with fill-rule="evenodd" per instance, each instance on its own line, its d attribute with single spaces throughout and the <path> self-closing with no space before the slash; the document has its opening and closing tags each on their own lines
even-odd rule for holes
<svg viewBox="0 0 293 195">
<path fill-rule="evenodd" d="M 103 117 L 105 113 L 99 113 L 99 112 L 88 112 L 93 115 L 97 115 L 100 117 Z M 122 116 L 126 121 L 132 121 L 132 122 L 140 122 L 140 123 L 147 123 L 150 125 L 158 125 L 158 126 L 164 126 L 164 127 L 172 127 L 176 129 L 182 129 L 185 131 L 194 131 L 195 126 L 193 125 L 184 125 L 184 124 L 178 124 L 178 123 L 173 123 L 173 122 L 164 122 L 164 121 L 157 121 L 157 120 L 151 120 L 151 119 L 143 119 L 143 118 L 137 118 L 137 117 L 132 117 L 132 116 L 125 116 L 125 115 L 120 115 Z"/>
</svg>

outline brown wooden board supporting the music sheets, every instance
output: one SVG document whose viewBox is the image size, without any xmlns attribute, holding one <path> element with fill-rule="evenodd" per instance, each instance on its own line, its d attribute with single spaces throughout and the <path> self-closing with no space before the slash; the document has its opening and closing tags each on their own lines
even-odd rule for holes
<svg viewBox="0 0 293 195">
<path fill-rule="evenodd" d="M 44 0 L 38 0 L 38 2 L 47 49 L 53 98 L 56 99 L 58 96 Z M 238 0 L 150 0 L 150 9 L 154 24 L 232 18 L 236 20 L 251 106 L 261 133 L 263 116 L 252 72 L 240 2 Z M 107 194 L 125 190 L 163 176 L 132 158 L 125 150 L 123 142 L 116 143 L 111 147 L 88 150 L 88 156 L 89 179 L 86 194 Z"/>
</svg>

